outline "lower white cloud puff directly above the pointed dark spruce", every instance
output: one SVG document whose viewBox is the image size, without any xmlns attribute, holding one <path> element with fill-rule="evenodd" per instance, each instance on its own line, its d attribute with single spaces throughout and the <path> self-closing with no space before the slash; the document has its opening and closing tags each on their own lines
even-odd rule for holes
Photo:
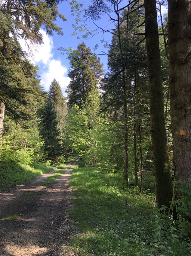
<svg viewBox="0 0 191 256">
<path fill-rule="evenodd" d="M 60 60 L 52 59 L 49 62 L 48 70 L 41 75 L 41 85 L 48 90 L 53 79 L 56 79 L 60 83 L 63 90 L 66 89 L 70 82 L 70 78 L 67 77 L 67 68 L 63 66 Z"/>
</svg>

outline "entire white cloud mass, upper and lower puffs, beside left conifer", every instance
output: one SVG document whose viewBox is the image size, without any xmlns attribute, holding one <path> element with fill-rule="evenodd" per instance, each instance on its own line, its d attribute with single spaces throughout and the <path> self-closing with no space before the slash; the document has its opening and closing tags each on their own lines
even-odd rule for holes
<svg viewBox="0 0 191 256">
<path fill-rule="evenodd" d="M 60 60 L 54 59 L 52 37 L 43 30 L 40 30 L 40 32 L 43 35 L 43 44 L 31 45 L 29 41 L 25 42 L 24 40 L 19 40 L 19 43 L 33 64 L 43 64 L 43 68 L 39 69 L 41 86 L 48 91 L 52 80 L 55 78 L 64 91 L 70 82 L 69 77 L 67 77 L 67 67 Z"/>
</svg>

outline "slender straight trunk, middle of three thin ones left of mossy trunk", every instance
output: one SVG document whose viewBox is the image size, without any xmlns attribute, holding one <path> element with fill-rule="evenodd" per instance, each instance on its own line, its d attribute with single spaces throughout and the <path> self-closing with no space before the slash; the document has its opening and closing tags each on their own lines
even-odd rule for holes
<svg viewBox="0 0 191 256">
<path fill-rule="evenodd" d="M 137 170 L 137 145 L 136 145 L 136 57 L 134 52 L 134 99 L 133 99 L 133 115 L 134 115 L 134 168 L 135 168 L 135 185 L 138 186 L 138 170 Z"/>
</svg>

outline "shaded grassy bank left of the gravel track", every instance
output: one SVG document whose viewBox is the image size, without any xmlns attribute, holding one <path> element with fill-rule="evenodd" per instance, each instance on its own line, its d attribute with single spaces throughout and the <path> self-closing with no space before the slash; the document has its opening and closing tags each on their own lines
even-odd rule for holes
<svg viewBox="0 0 191 256">
<path fill-rule="evenodd" d="M 10 161 L 2 162 L 1 191 L 54 169 L 55 167 L 47 167 L 42 164 L 34 164 L 33 166 L 30 166 L 24 164 L 16 164 Z"/>
</svg>

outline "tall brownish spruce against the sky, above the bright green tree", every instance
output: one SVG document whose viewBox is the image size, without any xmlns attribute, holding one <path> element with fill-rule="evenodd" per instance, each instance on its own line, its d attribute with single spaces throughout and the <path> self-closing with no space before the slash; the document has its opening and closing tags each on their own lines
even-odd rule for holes
<svg viewBox="0 0 191 256">
<path fill-rule="evenodd" d="M 77 50 L 69 54 L 71 79 L 68 89 L 69 106 L 82 105 L 88 92 L 97 88 L 98 80 L 103 73 L 100 58 L 91 54 L 91 49 L 82 42 Z"/>
</svg>

